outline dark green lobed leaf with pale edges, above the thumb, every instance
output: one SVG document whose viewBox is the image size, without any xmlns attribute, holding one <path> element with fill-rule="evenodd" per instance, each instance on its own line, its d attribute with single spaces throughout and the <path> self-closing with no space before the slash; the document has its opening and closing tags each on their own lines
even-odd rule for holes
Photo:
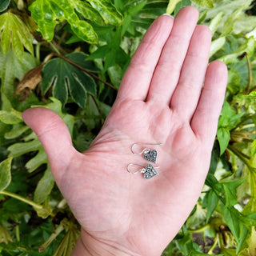
<svg viewBox="0 0 256 256">
<path fill-rule="evenodd" d="M 74 53 L 67 55 L 66 58 L 76 62 L 79 56 L 80 53 Z M 84 54 L 82 58 L 85 59 Z M 82 108 L 86 105 L 87 92 L 96 94 L 94 79 L 62 58 L 50 60 L 42 69 L 42 94 L 46 94 L 50 86 L 53 86 L 54 98 L 58 98 L 63 105 L 66 104 L 68 91 L 74 102 Z"/>
</svg>

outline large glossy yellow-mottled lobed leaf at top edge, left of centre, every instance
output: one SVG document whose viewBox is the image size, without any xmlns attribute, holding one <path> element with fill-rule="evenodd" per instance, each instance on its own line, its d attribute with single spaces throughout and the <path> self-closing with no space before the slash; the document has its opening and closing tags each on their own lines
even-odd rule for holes
<svg viewBox="0 0 256 256">
<path fill-rule="evenodd" d="M 76 11 L 82 14 L 86 14 L 86 10 L 90 11 L 88 6 L 83 5 L 81 1 L 36 0 L 29 10 L 32 18 L 38 23 L 38 28 L 43 38 L 47 41 L 51 41 L 54 38 L 54 27 L 59 22 L 66 20 L 78 38 L 89 43 L 98 42 L 97 34 L 90 23 L 81 20 L 76 14 Z"/>
</svg>

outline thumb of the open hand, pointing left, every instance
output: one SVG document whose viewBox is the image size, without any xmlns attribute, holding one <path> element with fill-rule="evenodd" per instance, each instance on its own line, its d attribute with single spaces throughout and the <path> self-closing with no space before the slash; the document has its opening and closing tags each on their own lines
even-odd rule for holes
<svg viewBox="0 0 256 256">
<path fill-rule="evenodd" d="M 65 122 L 54 111 L 43 107 L 26 110 L 22 118 L 42 142 L 58 183 L 75 151 Z"/>
</svg>

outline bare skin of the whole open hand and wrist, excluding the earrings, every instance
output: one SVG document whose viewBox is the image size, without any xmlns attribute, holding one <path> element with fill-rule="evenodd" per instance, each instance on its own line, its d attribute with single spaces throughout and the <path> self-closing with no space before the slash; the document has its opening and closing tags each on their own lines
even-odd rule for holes
<svg viewBox="0 0 256 256">
<path fill-rule="evenodd" d="M 82 226 L 73 256 L 160 255 L 197 202 L 227 80 L 222 62 L 208 65 L 211 32 L 197 21 L 198 10 L 186 6 L 175 20 L 162 15 L 153 22 L 85 152 L 74 149 L 51 110 L 23 113 Z M 145 146 L 158 150 L 158 176 L 146 180 L 126 171 L 129 163 L 149 163 L 131 153 L 135 142 L 162 143 Z"/>
</svg>

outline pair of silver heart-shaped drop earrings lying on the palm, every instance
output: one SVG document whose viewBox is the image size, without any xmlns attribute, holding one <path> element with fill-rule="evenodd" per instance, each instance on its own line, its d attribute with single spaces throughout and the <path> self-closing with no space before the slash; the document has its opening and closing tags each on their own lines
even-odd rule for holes
<svg viewBox="0 0 256 256">
<path fill-rule="evenodd" d="M 143 154 L 143 158 L 146 160 L 146 161 L 150 161 L 150 162 L 154 162 L 156 163 L 157 161 L 157 156 L 158 156 L 158 151 L 157 150 L 151 150 L 149 148 L 145 148 L 143 149 L 140 153 L 136 153 L 134 151 L 134 146 L 136 145 L 161 145 L 162 143 L 134 143 L 130 150 L 133 154 Z M 138 172 L 141 173 L 141 174 L 144 174 L 144 178 L 146 179 L 150 179 L 150 178 L 153 178 L 154 176 L 158 175 L 158 171 L 155 170 L 156 168 L 159 168 L 159 166 L 152 166 L 151 164 L 148 164 L 146 166 L 143 166 L 143 168 L 139 169 L 139 170 L 135 170 L 135 171 L 132 171 L 131 170 L 131 166 L 143 166 L 143 165 L 139 165 L 139 164 L 136 164 L 136 163 L 130 163 L 128 166 L 127 166 L 127 171 L 130 173 L 130 174 L 137 174 Z"/>
</svg>

